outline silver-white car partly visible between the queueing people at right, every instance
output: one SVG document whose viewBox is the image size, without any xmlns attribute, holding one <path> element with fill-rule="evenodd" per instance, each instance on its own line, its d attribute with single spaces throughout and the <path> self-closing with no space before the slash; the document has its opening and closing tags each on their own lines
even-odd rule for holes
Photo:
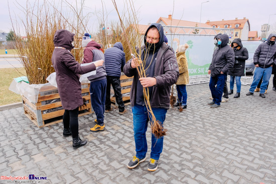
<svg viewBox="0 0 276 184">
<path fill-rule="evenodd" d="M 245 72 L 246 74 L 253 75 L 255 70 L 255 65 L 253 63 L 253 56 L 258 48 L 258 46 L 262 43 L 260 41 L 244 41 L 241 42 L 243 47 L 245 47 L 248 51 L 248 60 L 245 61 Z"/>
</svg>

